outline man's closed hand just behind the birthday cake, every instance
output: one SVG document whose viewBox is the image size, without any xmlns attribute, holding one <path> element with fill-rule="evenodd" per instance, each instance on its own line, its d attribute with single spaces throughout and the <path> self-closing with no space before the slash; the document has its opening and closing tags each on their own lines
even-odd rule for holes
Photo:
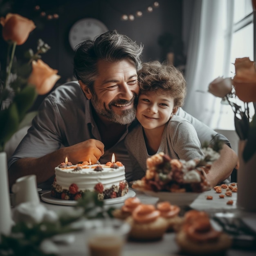
<svg viewBox="0 0 256 256">
<path fill-rule="evenodd" d="M 65 148 L 65 153 L 68 161 L 72 164 L 84 161 L 96 164 L 97 160 L 104 154 L 104 144 L 97 139 L 88 139 Z M 64 160 L 65 158 L 63 162 Z"/>
</svg>

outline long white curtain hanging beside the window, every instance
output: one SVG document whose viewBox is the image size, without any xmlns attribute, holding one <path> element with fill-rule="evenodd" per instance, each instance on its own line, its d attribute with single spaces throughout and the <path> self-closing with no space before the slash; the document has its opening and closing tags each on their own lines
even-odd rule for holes
<svg viewBox="0 0 256 256">
<path fill-rule="evenodd" d="M 220 98 L 207 92 L 213 79 L 226 77 L 229 49 L 225 38 L 230 36 L 227 28 L 231 29 L 226 25 L 226 4 L 226 0 L 195 0 L 187 53 L 187 97 L 183 108 L 213 129 L 234 128 L 231 107 L 220 104 Z"/>
</svg>

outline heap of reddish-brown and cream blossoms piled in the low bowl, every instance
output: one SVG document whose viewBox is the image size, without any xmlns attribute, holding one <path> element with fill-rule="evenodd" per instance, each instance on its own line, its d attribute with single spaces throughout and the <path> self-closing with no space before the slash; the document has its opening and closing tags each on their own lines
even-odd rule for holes
<svg viewBox="0 0 256 256">
<path fill-rule="evenodd" d="M 150 191 L 197 192 L 210 189 L 204 171 L 211 164 L 201 166 L 200 159 L 184 161 L 171 159 L 164 153 L 158 153 L 147 159 L 146 175 L 133 182 L 132 188 Z"/>
</svg>

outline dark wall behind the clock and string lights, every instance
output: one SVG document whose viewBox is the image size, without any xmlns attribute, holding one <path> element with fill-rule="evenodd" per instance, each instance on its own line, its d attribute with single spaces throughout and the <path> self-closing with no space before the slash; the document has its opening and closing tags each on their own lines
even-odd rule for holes
<svg viewBox="0 0 256 256">
<path fill-rule="evenodd" d="M 5 2 L 5 1 L 2 1 Z M 119 33 L 126 34 L 137 43 L 144 44 L 143 61 L 163 59 L 162 49 L 157 43 L 160 35 L 168 32 L 177 42 L 182 41 L 182 1 L 159 0 L 159 7 L 153 8 L 148 13 L 146 8 L 153 6 L 151 0 L 25 0 L 8 1 L 9 12 L 19 13 L 22 16 L 34 20 L 36 29 L 31 32 L 27 42 L 16 49 L 17 56 L 26 49 L 36 48 L 36 41 L 42 38 L 51 47 L 49 52 L 42 55 L 42 59 L 50 67 L 57 69 L 63 83 L 72 79 L 73 50 L 68 42 L 68 33 L 72 25 L 81 18 L 96 18 L 103 22 L 109 30 L 117 29 Z M 35 11 L 36 5 L 40 6 Z M 7 8 L 8 9 L 8 8 Z M 123 13 L 134 14 L 143 12 L 142 17 L 136 17 L 133 21 L 122 21 Z M 5 15 L 1 7 L 1 16 Z M 47 20 L 41 17 L 40 12 L 46 14 L 58 13 L 58 19 Z M 4 59 L 6 43 L 0 41 L 1 61 Z"/>
</svg>

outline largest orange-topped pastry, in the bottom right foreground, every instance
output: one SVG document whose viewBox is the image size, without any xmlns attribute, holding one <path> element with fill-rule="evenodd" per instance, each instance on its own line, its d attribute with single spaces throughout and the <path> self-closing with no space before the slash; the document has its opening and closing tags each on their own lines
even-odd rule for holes
<svg viewBox="0 0 256 256">
<path fill-rule="evenodd" d="M 220 255 L 232 244 L 230 236 L 212 227 L 207 213 L 197 210 L 184 215 L 175 239 L 182 253 L 193 255 Z"/>
</svg>

